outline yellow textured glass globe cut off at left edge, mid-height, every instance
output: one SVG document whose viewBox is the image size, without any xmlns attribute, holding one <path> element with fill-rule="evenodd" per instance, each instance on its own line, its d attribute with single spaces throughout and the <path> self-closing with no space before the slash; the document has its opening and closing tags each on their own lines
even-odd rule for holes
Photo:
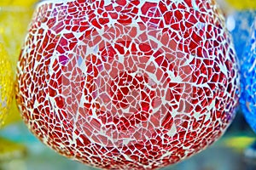
<svg viewBox="0 0 256 170">
<path fill-rule="evenodd" d="M 14 91 L 14 74 L 9 62 L 9 57 L 0 45 L 0 126 L 3 117 L 7 114 Z"/>
</svg>

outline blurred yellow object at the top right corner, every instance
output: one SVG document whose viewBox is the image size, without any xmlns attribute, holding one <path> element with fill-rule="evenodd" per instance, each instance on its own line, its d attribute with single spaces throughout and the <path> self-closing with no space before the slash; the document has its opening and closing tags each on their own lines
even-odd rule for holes
<svg viewBox="0 0 256 170">
<path fill-rule="evenodd" d="M 232 7 L 243 10 L 243 9 L 256 9 L 255 0 L 226 0 Z"/>
</svg>

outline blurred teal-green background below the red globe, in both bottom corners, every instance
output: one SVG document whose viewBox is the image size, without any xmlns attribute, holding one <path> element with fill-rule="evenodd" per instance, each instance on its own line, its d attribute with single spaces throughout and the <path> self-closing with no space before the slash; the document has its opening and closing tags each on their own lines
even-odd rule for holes
<svg viewBox="0 0 256 170">
<path fill-rule="evenodd" d="M 0 154 L 0 170 L 96 170 L 50 150 L 28 131 L 23 122 L 3 128 L 0 131 L 0 138 L 9 139 L 26 148 L 23 154 L 9 155 L 9 159 L 1 159 Z M 255 170 L 256 160 L 245 156 L 245 150 L 254 139 L 255 134 L 238 112 L 227 132 L 215 144 L 187 160 L 162 170 Z M 1 147 L 5 146 L 0 145 L 0 153 Z"/>
</svg>

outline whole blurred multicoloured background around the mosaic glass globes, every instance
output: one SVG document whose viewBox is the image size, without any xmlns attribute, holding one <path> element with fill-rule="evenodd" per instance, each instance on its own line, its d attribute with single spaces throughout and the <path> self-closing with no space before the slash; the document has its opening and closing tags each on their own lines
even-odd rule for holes
<svg viewBox="0 0 256 170">
<path fill-rule="evenodd" d="M 15 65 L 20 54 L 20 46 L 26 35 L 26 27 L 32 17 L 36 0 L 0 0 L 0 43 L 9 56 L 12 74 L 15 77 Z M 233 35 L 238 57 L 242 55 L 248 31 L 255 18 L 256 3 L 253 0 L 218 0 L 229 31 Z M 239 48 L 238 48 L 239 47 Z M 3 53 L 0 50 L 0 54 Z M 2 58 L 1 58 L 2 59 Z M 1 68 L 2 69 L 2 68 Z M 13 94 L 9 94 L 13 98 Z M 15 100 L 9 102 L 9 113 L 3 112 L 4 124 L 0 128 L 0 170 L 86 170 L 77 161 L 71 161 L 50 150 L 30 133 L 20 120 Z M 1 115 L 0 115 L 1 122 Z M 238 109 L 236 119 L 223 138 L 212 144 L 207 150 L 191 158 L 166 167 L 170 170 L 254 170 L 256 152 L 253 152 L 255 133 L 248 127 Z"/>
</svg>

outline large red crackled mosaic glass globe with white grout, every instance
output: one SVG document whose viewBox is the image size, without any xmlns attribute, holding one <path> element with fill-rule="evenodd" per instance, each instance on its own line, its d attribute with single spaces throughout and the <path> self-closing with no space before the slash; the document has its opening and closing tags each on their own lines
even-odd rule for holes
<svg viewBox="0 0 256 170">
<path fill-rule="evenodd" d="M 20 54 L 17 100 L 32 133 L 61 155 L 155 169 L 224 133 L 237 69 L 214 1 L 44 1 Z"/>
</svg>

